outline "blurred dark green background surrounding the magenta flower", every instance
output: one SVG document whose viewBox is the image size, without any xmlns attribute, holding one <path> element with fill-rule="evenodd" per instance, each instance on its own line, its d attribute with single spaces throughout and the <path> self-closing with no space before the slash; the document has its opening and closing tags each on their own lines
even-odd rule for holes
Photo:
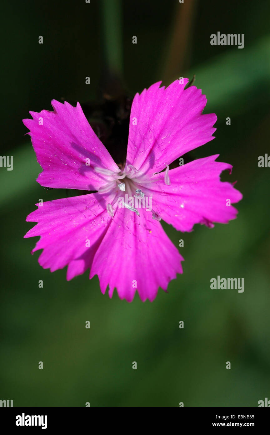
<svg viewBox="0 0 270 435">
<path fill-rule="evenodd" d="M 0 399 L 14 406 L 258 406 L 270 398 L 270 168 L 257 166 L 258 156 L 270 154 L 270 3 L 49 0 L 2 8 L 1 155 L 13 155 L 14 167 L 0 168 Z M 244 49 L 211 46 L 217 31 L 244 33 Z M 99 98 L 106 68 L 131 95 L 196 74 L 217 131 L 189 157 L 220 154 L 234 166 L 222 179 L 237 180 L 244 194 L 228 225 L 184 234 L 164 225 L 176 246 L 184 239 L 184 274 L 152 303 L 136 295 L 129 304 L 116 292 L 111 300 L 88 273 L 67 282 L 66 270 L 39 266 L 41 251 L 31 256 L 38 238 L 23 239 L 39 198 L 66 192 L 36 183 L 40 167 L 21 120 L 28 110 L 50 110 L 53 98 Z M 244 293 L 211 290 L 217 275 L 244 278 Z"/>
</svg>

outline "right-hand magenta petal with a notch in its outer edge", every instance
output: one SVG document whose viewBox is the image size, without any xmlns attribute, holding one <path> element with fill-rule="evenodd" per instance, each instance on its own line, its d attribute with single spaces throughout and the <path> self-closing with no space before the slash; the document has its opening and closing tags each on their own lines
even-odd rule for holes
<svg viewBox="0 0 270 435">
<path fill-rule="evenodd" d="M 152 196 L 152 208 L 177 230 L 191 231 L 194 224 L 213 227 L 213 222 L 235 219 L 232 205 L 242 194 L 231 183 L 220 181 L 222 171 L 231 170 L 227 163 L 215 161 L 217 155 L 194 160 L 168 172 L 171 184 L 164 182 L 164 172 L 144 184 L 145 194 Z"/>
</svg>

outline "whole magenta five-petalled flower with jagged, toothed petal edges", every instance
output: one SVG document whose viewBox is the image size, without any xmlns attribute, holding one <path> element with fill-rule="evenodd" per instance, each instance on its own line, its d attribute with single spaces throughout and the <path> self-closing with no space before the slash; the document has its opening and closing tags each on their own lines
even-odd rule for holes
<svg viewBox="0 0 270 435">
<path fill-rule="evenodd" d="M 169 170 L 171 162 L 214 139 L 216 130 L 216 115 L 202 114 L 205 95 L 195 86 L 184 90 L 187 83 L 165 88 L 158 82 L 135 95 L 123 167 L 79 103 L 53 100 L 53 112 L 30 112 L 33 119 L 23 120 L 43 168 L 37 178 L 42 186 L 97 191 L 45 202 L 26 218 L 38 222 L 25 237 L 41 236 L 33 251 L 43 249 L 43 268 L 68 266 L 67 280 L 90 269 L 103 294 L 109 285 L 110 298 L 116 288 L 130 302 L 137 289 L 142 301 L 153 301 L 159 287 L 166 290 L 182 273 L 184 260 L 160 220 L 191 231 L 194 224 L 212 227 L 236 218 L 227 201 L 242 195 L 220 181 L 221 171 L 232 167 L 217 162 L 218 154 Z"/>
</svg>

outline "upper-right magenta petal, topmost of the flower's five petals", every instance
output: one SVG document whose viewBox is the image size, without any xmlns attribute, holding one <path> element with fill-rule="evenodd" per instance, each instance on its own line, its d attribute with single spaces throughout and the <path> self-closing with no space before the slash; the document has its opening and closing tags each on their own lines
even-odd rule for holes
<svg viewBox="0 0 270 435">
<path fill-rule="evenodd" d="M 161 82 L 136 94 L 132 102 L 127 164 L 154 174 L 166 164 L 214 139 L 215 114 L 202 115 L 206 97 L 201 89 L 184 90 L 188 79 L 167 88 Z"/>
</svg>

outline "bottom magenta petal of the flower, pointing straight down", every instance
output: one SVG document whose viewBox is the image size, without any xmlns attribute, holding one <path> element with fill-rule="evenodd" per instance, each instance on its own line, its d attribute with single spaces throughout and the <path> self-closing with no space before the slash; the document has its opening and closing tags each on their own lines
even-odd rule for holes
<svg viewBox="0 0 270 435">
<path fill-rule="evenodd" d="M 136 289 L 142 301 L 153 301 L 158 288 L 182 273 L 184 259 L 165 234 L 160 222 L 146 209 L 140 217 L 127 208 L 118 208 L 92 264 L 90 278 L 99 276 L 100 288 L 109 296 L 114 288 L 120 299 L 131 302 Z"/>
</svg>

